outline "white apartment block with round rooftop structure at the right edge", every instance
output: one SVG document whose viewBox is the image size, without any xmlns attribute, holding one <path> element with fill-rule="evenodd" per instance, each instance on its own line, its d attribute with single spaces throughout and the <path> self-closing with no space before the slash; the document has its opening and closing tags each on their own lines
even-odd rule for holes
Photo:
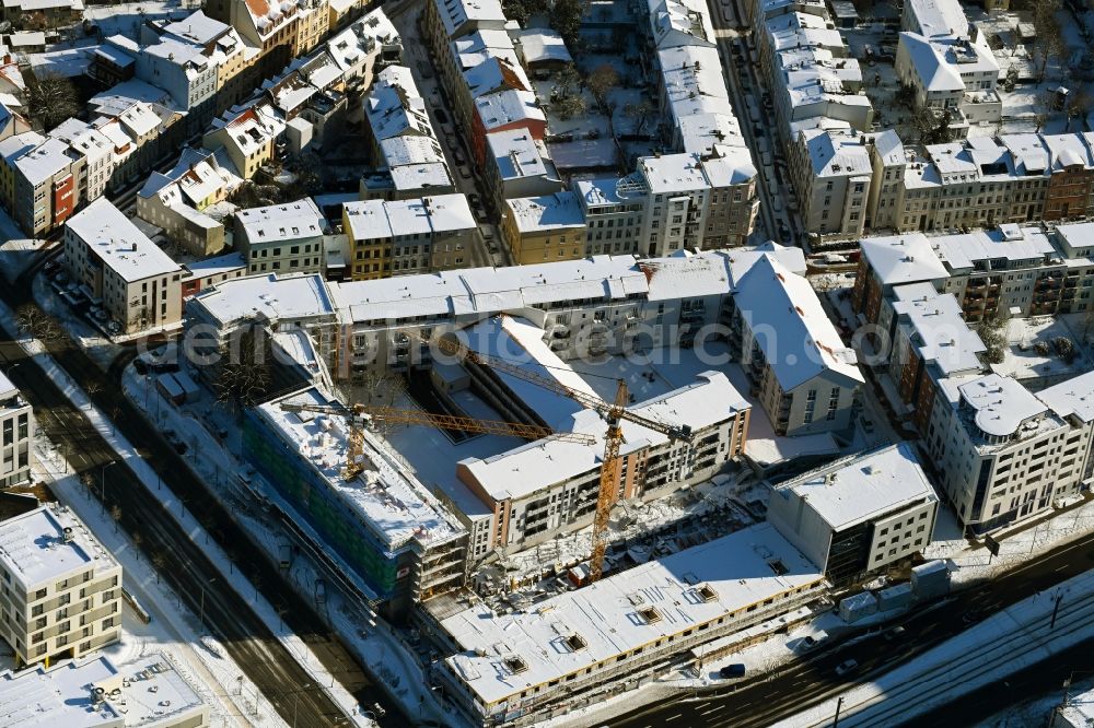
<svg viewBox="0 0 1094 728">
<path fill-rule="evenodd" d="M 944 379 L 940 389 L 926 442 L 965 528 L 982 533 L 1079 494 L 1085 424 L 1062 419 L 998 374 Z"/>
</svg>

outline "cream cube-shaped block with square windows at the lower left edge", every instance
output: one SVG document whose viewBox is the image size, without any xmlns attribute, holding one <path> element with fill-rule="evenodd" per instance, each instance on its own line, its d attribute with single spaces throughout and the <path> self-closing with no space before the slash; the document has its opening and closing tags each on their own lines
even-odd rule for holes
<svg viewBox="0 0 1094 728">
<path fill-rule="evenodd" d="M 65 506 L 0 521 L 0 636 L 19 665 L 121 637 L 121 565 Z"/>
</svg>

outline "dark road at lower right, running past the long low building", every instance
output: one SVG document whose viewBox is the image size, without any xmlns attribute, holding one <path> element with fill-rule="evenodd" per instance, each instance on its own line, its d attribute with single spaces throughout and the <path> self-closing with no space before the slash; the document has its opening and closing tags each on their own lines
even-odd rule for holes
<svg viewBox="0 0 1094 728">
<path fill-rule="evenodd" d="M 733 728 L 760 728 L 787 718 L 803 708 L 823 700 L 838 696 L 852 684 L 872 679 L 907 661 L 927 649 L 959 633 L 964 625 L 962 615 L 974 612 L 985 615 L 1002 607 L 1024 599 L 1037 591 L 1044 591 L 1072 576 L 1094 566 L 1094 535 L 1070 544 L 1062 545 L 1026 564 L 1008 572 L 982 586 L 957 594 L 934 609 L 917 610 L 916 613 L 896 620 L 889 625 L 900 624 L 905 634 L 899 642 L 886 642 L 880 634 L 853 645 L 834 644 L 815 653 L 808 659 L 793 662 L 772 676 L 746 679 L 735 685 L 728 685 L 717 692 L 703 693 L 648 706 L 613 719 L 608 725 L 618 727 L 672 726 L 693 728 L 698 726 L 732 726 Z M 875 629 L 876 630 L 876 629 Z M 1090 653 L 1076 653 L 1081 661 L 1067 662 L 1071 669 L 1090 669 Z M 853 676 L 837 678 L 835 668 L 841 661 L 853 658 L 859 670 Z M 1076 658 L 1078 660 L 1078 658 Z M 1050 660 L 1050 664 L 1059 662 Z M 990 698 L 992 709 L 1001 709 L 1025 697 L 1037 695 L 1045 690 L 1045 679 L 1037 676 L 1044 666 L 1024 671 L 1012 689 L 997 691 Z M 1055 680 L 1055 678 L 1054 678 Z M 1049 683 L 1051 681 L 1048 681 Z M 985 701 L 986 691 L 974 695 Z M 987 712 L 971 712 L 963 698 L 954 704 L 955 711 L 982 718 Z M 946 715 L 944 711 L 935 715 Z M 956 713 L 954 714 L 956 715 Z M 942 720 L 933 724 L 915 721 L 916 725 L 970 725 L 968 721 Z"/>
</svg>

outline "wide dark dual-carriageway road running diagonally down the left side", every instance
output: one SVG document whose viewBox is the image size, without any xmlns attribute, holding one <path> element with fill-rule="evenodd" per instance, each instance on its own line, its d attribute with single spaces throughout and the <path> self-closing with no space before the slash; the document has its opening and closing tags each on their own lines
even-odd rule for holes
<svg viewBox="0 0 1094 728">
<path fill-rule="evenodd" d="M 0 297 L 12 308 L 18 308 L 30 298 L 28 278 L 22 278 L 16 285 L 0 286 Z M 10 378 L 34 406 L 42 430 L 55 443 L 63 444 L 65 455 L 79 471 L 100 480 L 103 467 L 116 459 L 115 453 L 83 413 L 71 407 L 56 384 L 25 356 L 11 340 L 10 333 L 0 331 L 0 360 L 5 362 L 3 369 L 9 372 Z M 323 623 L 312 604 L 284 584 L 268 555 L 248 539 L 217 498 L 205 490 L 205 484 L 194 475 L 185 460 L 164 442 L 160 433 L 149 426 L 121 394 L 120 372 L 136 351 L 127 350 L 127 355 L 119 356 L 106 374 L 68 339 L 50 343 L 50 353 L 85 390 L 94 391 L 92 398 L 102 411 L 118 412 L 118 416 L 113 419 L 119 431 L 159 473 L 163 486 L 186 504 L 236 564 L 246 565 L 252 583 L 275 607 L 283 610 L 286 625 L 309 644 L 338 682 L 365 705 L 381 703 L 388 716 L 382 721 L 385 725 L 408 725 L 409 720 L 401 716 L 400 709 L 370 684 L 363 668 Z M 296 658 L 272 637 L 246 602 L 222 580 L 207 583 L 208 575 L 214 574 L 216 570 L 132 472 L 117 465 L 105 474 L 106 500 L 119 505 L 121 526 L 129 532 L 141 531 L 144 539 L 142 551 L 147 554 L 156 550 L 164 554 L 166 563 L 161 573 L 195 611 L 200 610 L 200 595 L 205 586 L 207 625 L 221 638 L 241 669 L 271 701 L 279 714 L 290 725 L 294 716 L 301 726 L 329 726 L 345 720 L 340 708 L 326 693 L 310 684 L 310 677 Z M 100 495 L 97 491 L 95 495 Z"/>
</svg>

